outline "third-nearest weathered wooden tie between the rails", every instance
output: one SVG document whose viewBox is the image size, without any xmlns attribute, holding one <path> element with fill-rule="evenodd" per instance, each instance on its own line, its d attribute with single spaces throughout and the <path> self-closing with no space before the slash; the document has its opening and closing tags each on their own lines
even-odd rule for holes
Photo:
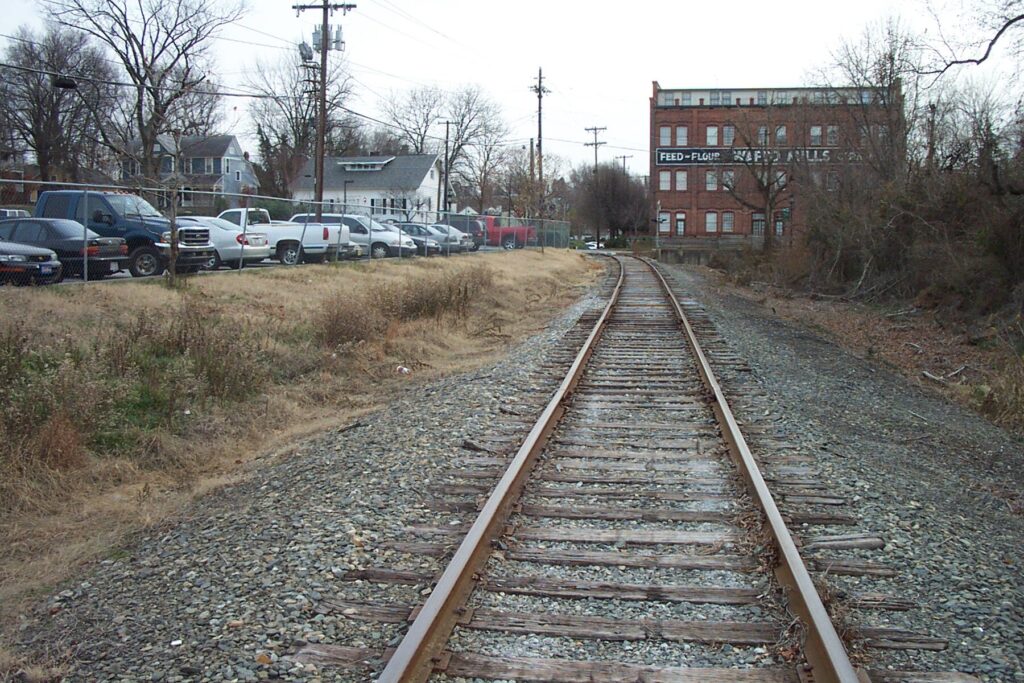
<svg viewBox="0 0 1024 683">
<path fill-rule="evenodd" d="M 655 600 L 720 605 L 753 604 L 757 602 L 760 594 L 757 589 L 753 588 L 616 584 L 544 577 L 487 578 L 480 588 L 492 593 L 541 595 L 556 598 Z"/>
</svg>

